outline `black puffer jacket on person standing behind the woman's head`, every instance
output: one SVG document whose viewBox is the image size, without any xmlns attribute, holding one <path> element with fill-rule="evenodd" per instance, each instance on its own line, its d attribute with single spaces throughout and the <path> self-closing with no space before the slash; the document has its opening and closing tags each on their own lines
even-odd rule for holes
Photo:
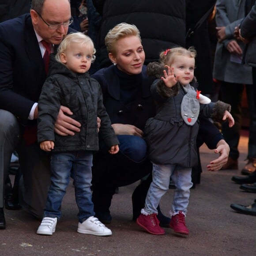
<svg viewBox="0 0 256 256">
<path fill-rule="evenodd" d="M 138 27 L 146 53 L 145 64 L 159 59 L 159 53 L 174 45 L 185 46 L 185 0 L 93 0 L 102 14 L 97 50 L 101 67 L 111 64 L 105 36 L 121 22 Z"/>
</svg>

